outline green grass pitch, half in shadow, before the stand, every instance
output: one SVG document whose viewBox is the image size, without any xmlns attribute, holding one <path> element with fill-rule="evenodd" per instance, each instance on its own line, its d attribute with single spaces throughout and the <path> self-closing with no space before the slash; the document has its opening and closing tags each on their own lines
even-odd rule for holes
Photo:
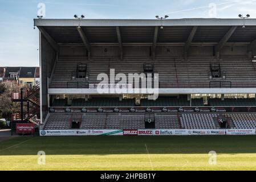
<svg viewBox="0 0 256 182">
<path fill-rule="evenodd" d="M 0 142 L 0 170 L 256 170 L 256 136 L 15 137 Z"/>
</svg>

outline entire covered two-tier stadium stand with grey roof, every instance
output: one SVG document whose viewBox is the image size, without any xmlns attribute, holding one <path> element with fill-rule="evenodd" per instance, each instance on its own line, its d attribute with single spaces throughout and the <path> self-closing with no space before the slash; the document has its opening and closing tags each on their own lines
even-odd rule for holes
<svg viewBox="0 0 256 182">
<path fill-rule="evenodd" d="M 256 129 L 256 19 L 162 23 L 35 19 L 40 130 Z M 131 73 L 152 75 L 158 97 L 120 84 Z M 100 93 L 105 85 L 129 89 Z"/>
</svg>

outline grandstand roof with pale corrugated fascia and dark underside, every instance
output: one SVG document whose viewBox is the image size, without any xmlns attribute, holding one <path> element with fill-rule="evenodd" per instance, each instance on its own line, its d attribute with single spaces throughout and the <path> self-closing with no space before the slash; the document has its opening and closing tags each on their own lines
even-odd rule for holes
<svg viewBox="0 0 256 182">
<path fill-rule="evenodd" d="M 90 44 L 184 45 L 193 33 L 193 44 L 250 44 L 256 40 L 256 19 L 34 19 L 56 43 L 83 43 L 78 27 Z M 245 24 L 245 28 L 242 28 Z M 118 27 L 118 30 L 117 30 Z M 156 28 L 158 27 L 158 28 Z M 41 31 L 42 32 L 42 31 Z M 157 34 L 156 34 L 157 32 Z"/>
</svg>

